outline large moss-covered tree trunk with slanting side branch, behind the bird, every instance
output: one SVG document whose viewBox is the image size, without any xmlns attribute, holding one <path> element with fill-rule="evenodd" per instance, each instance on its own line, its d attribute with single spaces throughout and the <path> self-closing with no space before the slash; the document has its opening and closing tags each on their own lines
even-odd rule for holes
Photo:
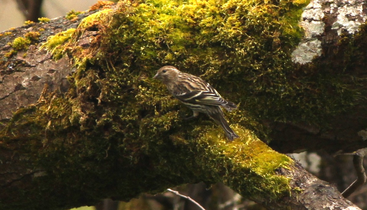
<svg viewBox="0 0 367 210">
<path fill-rule="evenodd" d="M 120 1 L 72 20 L 62 17 L 3 34 L 0 209 L 66 209 L 94 205 L 106 196 L 129 200 L 142 192 L 199 181 L 221 181 L 268 209 L 358 209 L 258 136 L 270 136 L 280 151 L 299 149 L 299 139 L 303 149 L 335 145 L 335 139 L 340 145 L 333 150 L 347 145 L 360 149 L 366 142 L 343 141 L 345 136 L 339 138 L 342 133 L 334 128 L 315 130 L 278 120 L 311 123 L 333 116 L 331 125 L 341 125 L 348 110 L 348 117 L 356 122 L 343 132 L 354 134 L 366 120 L 357 112 L 365 106 L 359 104 L 363 99 L 355 91 L 366 88 L 363 82 L 356 85 L 349 79 L 364 73 L 349 68 L 350 55 L 343 57 L 344 66 L 335 69 L 342 78 L 325 69 L 332 56 L 312 66 L 291 63 L 287 53 L 301 31 L 295 31 L 294 16 L 287 15 L 299 11 L 299 4 L 261 2 L 254 10 L 253 5 L 244 9 L 220 3 L 161 7 Z M 279 16 L 271 21 L 243 12 L 268 9 Z M 241 35 L 244 31 L 247 35 Z M 364 32 L 355 39 L 367 37 Z M 342 41 L 343 52 L 356 44 Z M 365 49 L 352 51 L 364 57 Z M 181 109 L 177 101 L 148 79 L 163 63 L 196 70 L 192 73 L 197 75 L 206 72 L 219 88 L 226 87 L 228 96 L 243 104 L 228 114 L 241 138 L 227 143 L 221 130 L 205 118 L 185 122 L 177 112 Z M 327 82 L 334 82 L 333 86 Z M 37 101 L 45 84 L 50 90 Z M 323 101 L 326 98 L 330 101 Z M 258 116 L 270 121 L 264 123 Z M 300 131 L 297 138 L 288 135 L 294 130 Z M 292 144 L 284 144 L 288 141 Z M 282 150 L 282 143 L 286 149 Z M 46 196 L 52 198 L 45 201 Z"/>
</svg>

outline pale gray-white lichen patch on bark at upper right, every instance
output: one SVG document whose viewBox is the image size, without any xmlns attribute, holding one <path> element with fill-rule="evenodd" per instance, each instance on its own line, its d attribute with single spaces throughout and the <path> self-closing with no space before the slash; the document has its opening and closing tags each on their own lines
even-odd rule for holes
<svg viewBox="0 0 367 210">
<path fill-rule="evenodd" d="M 363 0 L 311 0 L 304 8 L 300 25 L 305 36 L 292 53 L 295 63 L 309 63 L 322 53 L 321 44 L 338 36 L 354 34 L 366 21 L 367 7 Z"/>
</svg>

